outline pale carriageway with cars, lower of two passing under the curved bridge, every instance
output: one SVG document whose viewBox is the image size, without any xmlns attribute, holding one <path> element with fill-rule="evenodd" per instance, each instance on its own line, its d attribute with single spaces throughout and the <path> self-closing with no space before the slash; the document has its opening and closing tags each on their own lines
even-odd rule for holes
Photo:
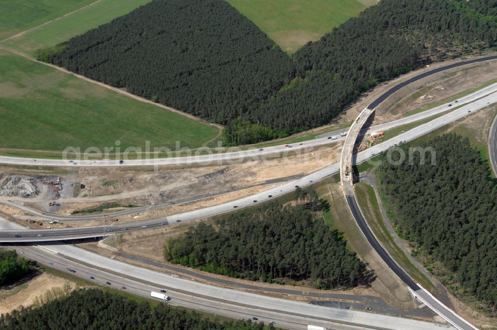
<svg viewBox="0 0 497 330">
<path fill-rule="evenodd" d="M 462 119 L 471 113 L 474 113 L 480 109 L 487 107 L 489 104 L 497 102 L 497 92 L 489 94 L 483 98 L 480 98 L 472 103 L 466 104 L 453 111 L 435 118 L 425 124 L 419 125 L 414 129 L 411 129 L 405 133 L 395 136 L 385 142 L 374 145 L 359 154 L 357 154 L 357 163 L 362 163 L 374 157 L 375 155 L 387 151 L 390 147 L 401 144 L 402 142 L 412 141 L 420 136 L 423 136 L 437 128 L 440 128 L 448 123 L 454 122 L 458 119 Z M 227 203 L 214 205 L 206 207 L 199 210 L 184 212 L 180 214 L 170 215 L 164 218 L 144 220 L 140 222 L 134 222 L 129 226 L 129 230 L 139 230 L 143 226 L 144 228 L 149 228 L 151 226 L 161 226 L 166 223 L 175 223 L 177 221 L 185 222 L 206 217 L 211 217 L 214 215 L 226 213 L 239 209 L 242 207 L 247 207 L 255 205 L 257 203 L 265 202 L 271 200 L 274 197 L 281 196 L 292 192 L 296 187 L 304 187 L 322 180 L 332 174 L 339 171 L 339 163 L 326 166 L 316 172 L 306 175 L 302 178 L 286 182 L 280 186 L 267 189 L 265 191 L 259 192 L 257 194 L 240 198 Z M 100 237 L 111 235 L 117 232 L 124 231 L 125 224 L 122 225 L 106 225 L 106 226 L 93 226 L 93 227 L 83 227 L 83 228 L 68 228 L 68 229 L 57 229 L 57 230 L 23 230 L 23 231 L 13 231 L 4 230 L 0 232 L 0 242 L 40 242 L 40 241 L 54 241 L 54 240 L 66 240 L 70 238 L 87 238 L 87 237 Z M 109 232 L 109 229 L 112 231 Z M 20 235 L 20 237 L 15 237 Z M 42 236 L 38 236 L 42 235 Z"/>
</svg>

